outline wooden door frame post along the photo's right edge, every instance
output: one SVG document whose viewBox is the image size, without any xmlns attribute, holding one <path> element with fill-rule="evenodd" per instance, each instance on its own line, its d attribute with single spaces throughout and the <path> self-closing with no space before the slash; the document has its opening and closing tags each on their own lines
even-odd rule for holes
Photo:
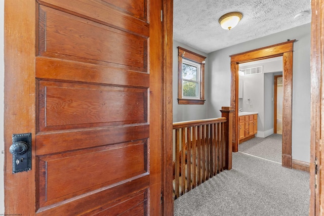
<svg viewBox="0 0 324 216">
<path fill-rule="evenodd" d="M 309 215 L 324 214 L 324 148 L 322 134 L 324 133 L 324 2 L 311 1 L 311 102 L 310 102 L 310 210 Z M 316 171 L 317 169 L 317 171 Z M 316 185 L 316 186 L 315 186 Z"/>
</svg>

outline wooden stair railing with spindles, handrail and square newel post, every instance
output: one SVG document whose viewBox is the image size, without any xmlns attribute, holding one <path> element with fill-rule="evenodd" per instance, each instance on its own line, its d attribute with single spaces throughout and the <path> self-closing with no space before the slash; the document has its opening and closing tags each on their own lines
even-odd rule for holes
<svg viewBox="0 0 324 216">
<path fill-rule="evenodd" d="M 232 168 L 231 107 L 222 117 L 173 123 L 174 199 Z"/>
</svg>

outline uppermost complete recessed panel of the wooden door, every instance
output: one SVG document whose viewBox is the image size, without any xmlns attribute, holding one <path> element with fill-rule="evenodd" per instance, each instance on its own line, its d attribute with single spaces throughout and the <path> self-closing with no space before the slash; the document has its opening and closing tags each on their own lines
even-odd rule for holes
<svg viewBox="0 0 324 216">
<path fill-rule="evenodd" d="M 147 72 L 146 26 L 138 35 L 40 6 L 38 28 L 39 56 Z"/>
</svg>

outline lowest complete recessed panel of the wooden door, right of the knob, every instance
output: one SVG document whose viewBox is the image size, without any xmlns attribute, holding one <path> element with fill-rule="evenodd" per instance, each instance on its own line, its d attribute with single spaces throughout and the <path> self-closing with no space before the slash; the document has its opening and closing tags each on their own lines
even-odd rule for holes
<svg viewBox="0 0 324 216">
<path fill-rule="evenodd" d="M 146 142 L 137 141 L 39 157 L 40 207 L 147 175 L 145 150 Z M 85 181 L 84 174 L 91 181 Z"/>
</svg>

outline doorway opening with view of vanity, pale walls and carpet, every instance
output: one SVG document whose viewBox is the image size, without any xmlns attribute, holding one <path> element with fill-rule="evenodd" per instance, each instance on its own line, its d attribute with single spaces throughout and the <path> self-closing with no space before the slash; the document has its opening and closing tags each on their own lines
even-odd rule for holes
<svg viewBox="0 0 324 216">
<path fill-rule="evenodd" d="M 274 78 L 277 75 L 282 78 L 282 56 L 240 63 L 238 66 L 238 150 L 281 164 L 282 136 L 273 132 L 276 123 Z M 279 113 L 282 115 L 282 97 L 280 105 Z M 253 120 L 250 120 L 251 115 Z"/>
</svg>

